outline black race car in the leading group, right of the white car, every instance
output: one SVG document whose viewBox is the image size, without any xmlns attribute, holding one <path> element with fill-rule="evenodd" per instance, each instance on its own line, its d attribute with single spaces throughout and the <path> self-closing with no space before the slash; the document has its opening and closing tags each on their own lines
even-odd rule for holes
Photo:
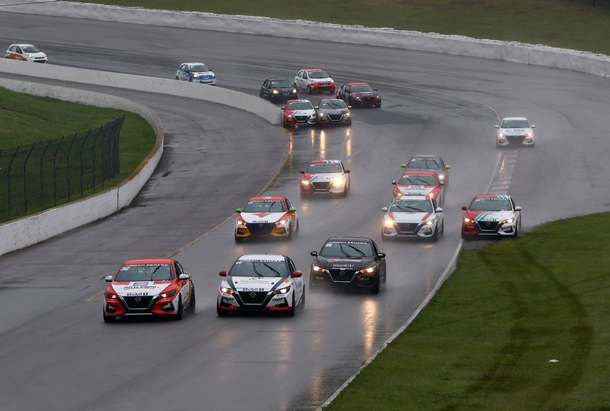
<svg viewBox="0 0 610 411">
<path fill-rule="evenodd" d="M 331 237 L 320 252 L 312 251 L 309 289 L 355 286 L 379 293 L 386 283 L 385 253 L 366 237 Z"/>
</svg>

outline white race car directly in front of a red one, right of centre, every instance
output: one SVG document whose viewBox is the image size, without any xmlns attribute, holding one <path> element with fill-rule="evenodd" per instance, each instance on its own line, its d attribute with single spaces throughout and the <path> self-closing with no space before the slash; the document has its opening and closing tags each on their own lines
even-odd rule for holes
<svg viewBox="0 0 610 411">
<path fill-rule="evenodd" d="M 428 196 L 398 197 L 385 212 L 381 239 L 397 237 L 428 238 L 438 241 L 445 231 L 443 209 Z"/>
</svg>

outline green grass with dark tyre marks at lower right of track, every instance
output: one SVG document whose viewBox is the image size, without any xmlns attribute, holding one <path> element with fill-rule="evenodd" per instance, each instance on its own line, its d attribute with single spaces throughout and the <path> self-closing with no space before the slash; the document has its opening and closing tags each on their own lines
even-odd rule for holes
<svg viewBox="0 0 610 411">
<path fill-rule="evenodd" d="M 463 252 L 325 410 L 610 410 L 609 226 L 573 218 Z"/>
</svg>

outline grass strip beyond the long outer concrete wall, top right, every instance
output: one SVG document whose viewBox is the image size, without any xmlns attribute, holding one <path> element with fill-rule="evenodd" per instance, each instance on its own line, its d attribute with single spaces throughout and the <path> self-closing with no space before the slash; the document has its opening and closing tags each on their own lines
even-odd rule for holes
<svg viewBox="0 0 610 411">
<path fill-rule="evenodd" d="M 610 55 L 610 0 L 91 0 L 151 9 L 391 27 Z M 597 7 L 595 7 L 597 6 Z"/>
</svg>

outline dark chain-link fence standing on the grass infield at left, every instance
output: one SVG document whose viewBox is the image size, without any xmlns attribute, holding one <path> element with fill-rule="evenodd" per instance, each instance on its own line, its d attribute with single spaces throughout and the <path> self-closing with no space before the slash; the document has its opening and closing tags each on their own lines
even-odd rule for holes
<svg viewBox="0 0 610 411">
<path fill-rule="evenodd" d="M 57 140 L 0 149 L 0 222 L 103 190 L 104 182 L 120 172 L 124 119 Z"/>
</svg>

